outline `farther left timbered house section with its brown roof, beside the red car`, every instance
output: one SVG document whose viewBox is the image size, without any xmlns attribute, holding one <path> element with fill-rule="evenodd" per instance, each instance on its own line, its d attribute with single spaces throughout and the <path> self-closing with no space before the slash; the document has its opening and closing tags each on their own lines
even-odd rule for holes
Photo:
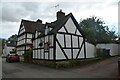
<svg viewBox="0 0 120 80">
<path fill-rule="evenodd" d="M 42 21 L 39 19 L 36 22 L 22 19 L 17 38 L 17 54 L 22 55 L 32 47 L 32 35 L 40 25 Z"/>
</svg>

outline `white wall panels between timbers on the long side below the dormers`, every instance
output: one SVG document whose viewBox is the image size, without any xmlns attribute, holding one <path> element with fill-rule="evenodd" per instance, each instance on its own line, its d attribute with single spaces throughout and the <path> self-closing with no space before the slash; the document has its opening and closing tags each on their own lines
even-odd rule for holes
<svg viewBox="0 0 120 80">
<path fill-rule="evenodd" d="M 50 42 L 49 46 L 53 46 L 53 40 L 54 40 L 53 35 L 46 36 L 45 40 L 44 40 L 44 37 L 35 39 L 33 41 L 33 46 L 34 46 L 33 49 L 44 48 L 45 42 Z M 43 46 L 39 46 L 41 41 L 43 43 Z M 38 51 L 38 56 L 36 56 L 37 51 Z M 44 59 L 44 54 L 45 54 L 45 59 L 48 59 L 48 53 L 44 53 L 44 49 L 33 50 L 33 55 L 34 55 L 33 58 Z M 50 48 L 49 55 L 50 55 L 50 59 L 53 59 L 53 48 Z"/>
</svg>

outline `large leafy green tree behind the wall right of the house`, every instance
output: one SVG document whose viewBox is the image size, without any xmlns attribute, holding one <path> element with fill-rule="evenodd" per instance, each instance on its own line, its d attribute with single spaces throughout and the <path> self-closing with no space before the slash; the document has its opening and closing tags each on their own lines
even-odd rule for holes
<svg viewBox="0 0 120 80">
<path fill-rule="evenodd" d="M 113 42 L 116 38 L 115 31 L 109 31 L 108 26 L 104 26 L 104 24 L 104 21 L 94 16 L 79 23 L 87 41 L 94 45 Z"/>
</svg>

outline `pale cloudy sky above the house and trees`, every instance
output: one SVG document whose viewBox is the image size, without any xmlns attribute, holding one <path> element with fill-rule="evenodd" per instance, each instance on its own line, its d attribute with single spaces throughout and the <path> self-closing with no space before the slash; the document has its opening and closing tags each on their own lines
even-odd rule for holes
<svg viewBox="0 0 120 80">
<path fill-rule="evenodd" d="M 72 13 L 79 23 L 90 16 L 105 21 L 110 30 L 118 33 L 119 0 L 2 0 L 0 3 L 0 38 L 18 34 L 21 19 L 43 23 L 56 20 L 56 12 L 62 9 Z M 59 5 L 55 7 L 56 5 Z"/>
</svg>

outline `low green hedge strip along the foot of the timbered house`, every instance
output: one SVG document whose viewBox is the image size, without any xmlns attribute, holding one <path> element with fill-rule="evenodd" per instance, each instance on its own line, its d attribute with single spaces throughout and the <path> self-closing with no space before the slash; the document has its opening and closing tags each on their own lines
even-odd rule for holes
<svg viewBox="0 0 120 80">
<path fill-rule="evenodd" d="M 98 61 L 101 61 L 105 58 L 103 57 L 97 57 L 97 58 L 89 58 L 89 59 L 82 59 L 82 60 L 67 60 L 67 61 L 44 61 L 44 60 L 33 60 L 32 62 L 34 64 L 47 66 L 50 68 L 56 68 L 56 69 L 64 69 L 64 68 L 73 68 L 78 66 L 84 66 L 91 63 L 95 63 Z"/>
</svg>

